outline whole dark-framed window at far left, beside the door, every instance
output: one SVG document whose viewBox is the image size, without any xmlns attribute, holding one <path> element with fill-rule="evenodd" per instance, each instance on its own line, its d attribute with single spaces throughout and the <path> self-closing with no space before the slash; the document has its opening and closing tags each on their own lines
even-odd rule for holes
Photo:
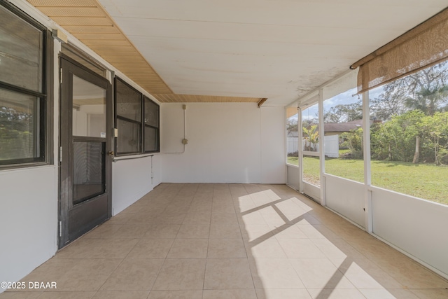
<svg viewBox="0 0 448 299">
<path fill-rule="evenodd" d="M 2 2 L 0 40 L 0 165 L 48 162 L 50 34 Z"/>
</svg>

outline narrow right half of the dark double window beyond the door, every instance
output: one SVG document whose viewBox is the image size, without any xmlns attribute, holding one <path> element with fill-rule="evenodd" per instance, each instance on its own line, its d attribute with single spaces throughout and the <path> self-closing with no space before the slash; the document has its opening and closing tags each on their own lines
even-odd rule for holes
<svg viewBox="0 0 448 299">
<path fill-rule="evenodd" d="M 153 153 L 159 151 L 159 105 L 144 97 L 144 151 Z"/>
</svg>

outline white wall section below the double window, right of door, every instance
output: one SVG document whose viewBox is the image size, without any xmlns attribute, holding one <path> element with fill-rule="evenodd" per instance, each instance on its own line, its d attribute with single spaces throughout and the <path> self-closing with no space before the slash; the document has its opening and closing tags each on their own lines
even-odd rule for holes
<svg viewBox="0 0 448 299">
<path fill-rule="evenodd" d="M 131 158 L 134 158 L 131 156 Z M 120 213 L 153 190 L 151 156 L 112 163 L 112 215 Z M 160 177 L 157 172 L 156 177 Z M 157 186 L 157 185 L 154 185 Z"/>
</svg>

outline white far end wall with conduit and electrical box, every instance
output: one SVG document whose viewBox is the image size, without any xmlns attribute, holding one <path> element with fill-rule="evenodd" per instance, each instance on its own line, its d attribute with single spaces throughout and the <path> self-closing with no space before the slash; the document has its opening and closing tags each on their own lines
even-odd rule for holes
<svg viewBox="0 0 448 299">
<path fill-rule="evenodd" d="M 286 183 L 284 109 L 255 103 L 162 104 L 162 181 Z"/>
</svg>

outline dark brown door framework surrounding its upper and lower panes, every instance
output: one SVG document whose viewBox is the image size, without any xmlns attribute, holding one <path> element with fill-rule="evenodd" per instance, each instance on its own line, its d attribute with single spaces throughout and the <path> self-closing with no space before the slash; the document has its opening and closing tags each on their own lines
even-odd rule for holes
<svg viewBox="0 0 448 299">
<path fill-rule="evenodd" d="M 112 216 L 113 92 L 106 78 L 71 59 L 59 55 L 59 249 Z M 85 137 L 85 141 L 102 141 L 104 145 L 104 193 L 73 204 L 73 75 L 106 90 L 106 139 Z M 86 220 L 76 221 L 84 215 Z M 90 219 L 90 220 L 88 220 Z M 86 222 L 87 221 L 87 222 Z M 74 226 L 73 226 L 74 225 Z M 80 226 L 73 231 L 73 227 Z"/>
</svg>

